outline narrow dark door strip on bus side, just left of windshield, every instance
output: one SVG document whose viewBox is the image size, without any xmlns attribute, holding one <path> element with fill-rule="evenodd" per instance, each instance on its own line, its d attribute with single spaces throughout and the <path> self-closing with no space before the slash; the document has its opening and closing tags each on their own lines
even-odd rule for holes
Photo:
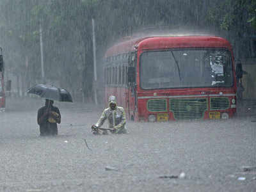
<svg viewBox="0 0 256 192">
<path fill-rule="evenodd" d="M 129 118 L 134 120 L 136 110 L 136 52 L 131 52 L 128 60 L 128 93 L 127 111 Z"/>
</svg>

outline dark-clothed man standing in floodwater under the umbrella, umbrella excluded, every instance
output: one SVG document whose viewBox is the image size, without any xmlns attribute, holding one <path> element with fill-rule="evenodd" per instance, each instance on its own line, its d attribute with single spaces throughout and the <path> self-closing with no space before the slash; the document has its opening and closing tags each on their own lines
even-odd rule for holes
<svg viewBox="0 0 256 192">
<path fill-rule="evenodd" d="M 40 126 L 40 136 L 57 135 L 57 123 L 61 122 L 60 110 L 52 106 L 53 100 L 45 99 L 45 106 L 38 109 L 37 123 Z"/>
</svg>

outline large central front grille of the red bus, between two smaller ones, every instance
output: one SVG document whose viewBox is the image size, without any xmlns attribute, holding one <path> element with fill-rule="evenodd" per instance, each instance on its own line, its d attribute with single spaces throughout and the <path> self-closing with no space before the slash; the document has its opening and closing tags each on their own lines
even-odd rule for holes
<svg viewBox="0 0 256 192">
<path fill-rule="evenodd" d="M 175 120 L 198 120 L 207 111 L 206 98 L 170 99 L 169 110 Z"/>
</svg>

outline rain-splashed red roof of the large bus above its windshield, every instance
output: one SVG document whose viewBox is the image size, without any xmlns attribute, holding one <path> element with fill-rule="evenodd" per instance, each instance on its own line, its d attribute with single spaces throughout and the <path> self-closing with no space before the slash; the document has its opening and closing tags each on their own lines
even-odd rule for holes
<svg viewBox="0 0 256 192">
<path fill-rule="evenodd" d="M 113 45 L 105 56 L 147 49 L 170 49 L 188 47 L 223 47 L 231 50 L 230 43 L 220 36 L 147 36 L 132 38 Z"/>
</svg>

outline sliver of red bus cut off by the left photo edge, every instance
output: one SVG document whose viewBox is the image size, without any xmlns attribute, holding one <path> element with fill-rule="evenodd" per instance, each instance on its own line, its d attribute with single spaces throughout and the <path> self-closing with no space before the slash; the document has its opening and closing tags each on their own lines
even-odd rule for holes
<svg viewBox="0 0 256 192">
<path fill-rule="evenodd" d="M 5 93 L 4 93 L 4 61 L 3 49 L 0 47 L 0 112 L 5 109 Z"/>
</svg>

